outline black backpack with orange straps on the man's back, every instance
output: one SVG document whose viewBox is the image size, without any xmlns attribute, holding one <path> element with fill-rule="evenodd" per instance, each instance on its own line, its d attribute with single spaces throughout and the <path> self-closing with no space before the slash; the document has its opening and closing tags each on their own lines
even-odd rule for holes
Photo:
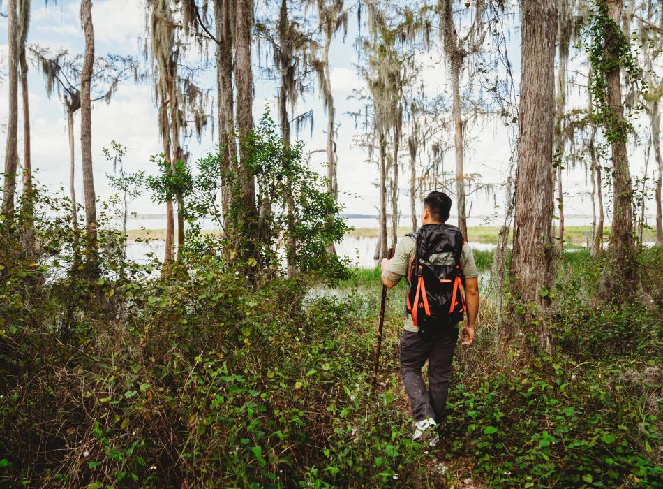
<svg viewBox="0 0 663 489">
<path fill-rule="evenodd" d="M 465 276 L 461 268 L 463 234 L 448 224 L 424 224 L 412 235 L 415 258 L 410 264 L 406 298 L 412 323 L 419 333 L 454 326 L 463 321 Z"/>
</svg>

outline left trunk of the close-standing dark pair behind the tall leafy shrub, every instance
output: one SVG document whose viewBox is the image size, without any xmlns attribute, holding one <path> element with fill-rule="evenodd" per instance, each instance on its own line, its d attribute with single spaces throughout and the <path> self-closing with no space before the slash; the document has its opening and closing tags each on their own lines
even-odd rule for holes
<svg viewBox="0 0 663 489">
<path fill-rule="evenodd" d="M 230 0 L 214 0 L 214 19 L 216 22 L 216 90 L 218 100 L 218 140 L 221 152 L 221 212 L 225 223 L 230 205 L 230 189 L 223 183 L 230 166 L 237 157 L 235 151 L 234 104 L 232 94 L 232 22 Z"/>
</svg>

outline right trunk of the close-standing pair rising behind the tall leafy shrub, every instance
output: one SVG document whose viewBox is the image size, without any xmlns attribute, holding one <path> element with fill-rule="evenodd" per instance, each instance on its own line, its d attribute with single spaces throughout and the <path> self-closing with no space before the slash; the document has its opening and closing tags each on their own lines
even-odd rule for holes
<svg viewBox="0 0 663 489">
<path fill-rule="evenodd" d="M 241 138 L 247 138 L 253 131 L 253 72 L 251 71 L 251 31 L 253 29 L 253 1 L 237 0 L 235 17 L 235 85 L 237 87 L 237 129 Z M 240 145 L 241 158 L 239 177 L 244 216 L 238 223 L 246 238 L 258 233 L 258 211 L 255 207 L 255 183 L 248 168 L 249 154 L 246 146 Z M 249 245 L 248 254 L 253 256 Z"/>
</svg>

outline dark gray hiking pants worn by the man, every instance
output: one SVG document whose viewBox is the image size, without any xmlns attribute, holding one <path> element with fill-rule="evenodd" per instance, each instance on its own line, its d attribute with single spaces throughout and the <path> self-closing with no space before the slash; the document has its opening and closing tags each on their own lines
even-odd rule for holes
<svg viewBox="0 0 663 489">
<path fill-rule="evenodd" d="M 401 377 L 410 397 L 412 416 L 416 421 L 433 418 L 436 423 L 445 421 L 445 404 L 449 392 L 449 375 L 452 370 L 458 329 L 445 328 L 434 338 L 419 333 L 403 331 L 401 336 Z M 422 367 L 429 362 L 429 388 L 422 377 Z"/>
</svg>

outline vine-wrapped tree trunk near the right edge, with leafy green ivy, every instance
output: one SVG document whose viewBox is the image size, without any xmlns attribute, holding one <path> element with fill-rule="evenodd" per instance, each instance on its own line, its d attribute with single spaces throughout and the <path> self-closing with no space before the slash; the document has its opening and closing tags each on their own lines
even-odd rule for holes
<svg viewBox="0 0 663 489">
<path fill-rule="evenodd" d="M 620 25 L 620 16 L 623 8 L 622 0 L 607 0 L 608 15 L 616 26 Z M 606 33 L 606 55 L 618 58 L 619 30 Z M 620 83 L 620 65 L 604 73 L 607 85 L 607 102 L 613 112 L 613 121 L 617 124 L 623 122 L 624 108 L 622 102 L 622 87 Z M 639 285 L 637 267 L 635 263 L 634 228 L 633 228 L 633 189 L 629 162 L 626 152 L 626 140 L 616 138 L 611 145 L 612 149 L 612 182 L 613 182 L 613 215 L 611 225 L 611 254 L 615 259 L 613 266 L 604 269 L 604 282 L 600 295 L 606 300 L 616 299 L 623 302 L 627 297 L 634 295 Z"/>
</svg>

